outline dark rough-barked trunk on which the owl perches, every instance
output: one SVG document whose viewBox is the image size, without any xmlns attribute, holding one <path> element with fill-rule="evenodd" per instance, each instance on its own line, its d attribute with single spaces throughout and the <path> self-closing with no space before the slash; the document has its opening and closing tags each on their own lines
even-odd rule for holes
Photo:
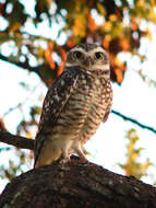
<svg viewBox="0 0 156 208">
<path fill-rule="evenodd" d="M 156 188 L 93 163 L 43 166 L 7 185 L 0 208 L 156 208 Z"/>
</svg>

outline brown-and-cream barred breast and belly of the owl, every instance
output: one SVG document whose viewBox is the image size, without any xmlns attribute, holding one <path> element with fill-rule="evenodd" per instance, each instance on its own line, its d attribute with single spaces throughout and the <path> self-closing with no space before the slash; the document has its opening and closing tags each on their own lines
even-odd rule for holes
<svg viewBox="0 0 156 208">
<path fill-rule="evenodd" d="M 82 138 L 92 136 L 108 107 L 107 93 L 107 83 L 99 80 L 94 82 L 80 80 L 59 116 L 56 125 L 59 131 L 64 135 L 79 135 Z"/>
</svg>

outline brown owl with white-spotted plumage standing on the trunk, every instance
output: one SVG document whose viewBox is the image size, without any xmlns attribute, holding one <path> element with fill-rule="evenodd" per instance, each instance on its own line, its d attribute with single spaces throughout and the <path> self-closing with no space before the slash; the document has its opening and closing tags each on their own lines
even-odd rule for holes
<svg viewBox="0 0 156 208">
<path fill-rule="evenodd" d="M 79 44 L 67 56 L 62 74 L 45 97 L 35 138 L 35 167 L 76 153 L 106 122 L 112 102 L 109 57 L 98 44 Z"/>
</svg>

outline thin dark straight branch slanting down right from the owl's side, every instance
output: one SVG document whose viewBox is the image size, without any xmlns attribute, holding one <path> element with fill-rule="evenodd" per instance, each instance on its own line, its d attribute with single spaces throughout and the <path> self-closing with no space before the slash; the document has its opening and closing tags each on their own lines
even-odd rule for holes
<svg viewBox="0 0 156 208">
<path fill-rule="evenodd" d="M 115 109 L 112 109 L 111 113 L 115 114 L 115 115 L 117 115 L 117 116 L 119 116 L 119 117 L 121 117 L 121 118 L 123 118 L 124 120 L 129 120 L 129 122 L 131 122 L 131 123 L 133 123 L 133 124 L 136 124 L 136 125 L 140 126 L 141 128 L 151 130 L 152 132 L 156 134 L 156 129 L 154 129 L 154 128 L 151 127 L 151 126 L 146 126 L 146 125 L 144 125 L 144 124 L 137 122 L 137 120 L 134 119 L 134 118 L 124 116 L 123 114 L 121 114 L 121 113 L 119 113 L 119 112 L 117 112 L 117 111 L 115 111 Z"/>
</svg>

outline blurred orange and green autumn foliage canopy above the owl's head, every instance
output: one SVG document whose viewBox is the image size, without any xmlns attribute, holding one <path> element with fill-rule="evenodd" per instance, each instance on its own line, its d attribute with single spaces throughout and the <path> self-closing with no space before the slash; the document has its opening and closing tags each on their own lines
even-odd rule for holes
<svg viewBox="0 0 156 208">
<path fill-rule="evenodd" d="M 35 71 L 49 85 L 62 72 L 71 47 L 80 42 L 98 42 L 109 51 L 111 79 L 121 83 L 127 65 L 118 55 L 129 51 L 141 61 L 145 59 L 139 48 L 142 37 L 151 38 L 151 32 L 141 24 L 156 22 L 155 5 L 154 0 L 34 0 L 29 3 L 1 0 L 0 58 Z M 40 34 L 39 28 L 45 31 Z M 4 50 L 5 45 L 10 51 Z"/>
</svg>

